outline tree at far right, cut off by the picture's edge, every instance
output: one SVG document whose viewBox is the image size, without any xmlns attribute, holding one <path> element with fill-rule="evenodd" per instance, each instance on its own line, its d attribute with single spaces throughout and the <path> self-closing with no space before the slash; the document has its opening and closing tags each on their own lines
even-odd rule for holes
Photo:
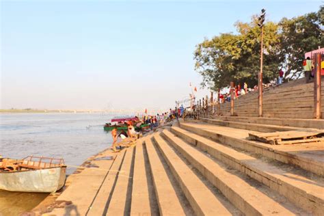
<svg viewBox="0 0 324 216">
<path fill-rule="evenodd" d="M 323 6 L 312 12 L 291 19 L 282 18 L 280 26 L 280 68 L 284 78 L 298 78 L 303 72 L 304 54 L 324 45 Z M 322 27 L 321 27 L 322 25 Z"/>
</svg>

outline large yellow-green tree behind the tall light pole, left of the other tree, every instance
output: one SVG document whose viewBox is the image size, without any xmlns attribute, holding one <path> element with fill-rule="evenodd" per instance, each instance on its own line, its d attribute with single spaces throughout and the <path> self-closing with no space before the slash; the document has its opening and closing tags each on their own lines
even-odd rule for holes
<svg viewBox="0 0 324 216">
<path fill-rule="evenodd" d="M 227 87 L 230 81 L 258 83 L 260 70 L 260 27 L 254 16 L 251 23 L 237 22 L 237 34 L 222 33 L 196 46 L 195 70 L 203 78 L 202 87 L 212 90 Z M 264 27 L 264 80 L 270 81 L 278 73 L 278 25 L 267 22 Z"/>
</svg>

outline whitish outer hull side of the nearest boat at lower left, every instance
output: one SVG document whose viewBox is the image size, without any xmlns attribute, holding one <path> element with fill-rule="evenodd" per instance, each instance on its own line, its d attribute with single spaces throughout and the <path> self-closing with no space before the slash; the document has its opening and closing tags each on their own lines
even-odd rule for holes
<svg viewBox="0 0 324 216">
<path fill-rule="evenodd" d="M 19 192 L 54 193 L 66 180 L 66 167 L 1 172 L 0 189 Z"/>
</svg>

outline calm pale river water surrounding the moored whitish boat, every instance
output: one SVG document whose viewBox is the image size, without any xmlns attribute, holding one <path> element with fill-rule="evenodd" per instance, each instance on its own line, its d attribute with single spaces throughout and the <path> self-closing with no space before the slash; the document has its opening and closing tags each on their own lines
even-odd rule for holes
<svg viewBox="0 0 324 216">
<path fill-rule="evenodd" d="M 110 118 L 101 113 L 1 113 L 0 155 L 62 157 L 67 165 L 81 165 L 111 146 L 110 133 L 103 131 Z M 67 174 L 75 169 L 68 167 Z M 0 190 L 0 216 L 29 211 L 46 195 Z"/>
</svg>

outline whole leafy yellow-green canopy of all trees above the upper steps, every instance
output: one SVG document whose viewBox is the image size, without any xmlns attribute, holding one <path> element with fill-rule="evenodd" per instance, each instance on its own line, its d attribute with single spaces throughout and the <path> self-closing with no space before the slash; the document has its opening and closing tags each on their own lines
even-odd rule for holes
<svg viewBox="0 0 324 216">
<path fill-rule="evenodd" d="M 202 75 L 202 87 L 217 90 L 230 81 L 258 83 L 260 70 L 260 27 L 257 16 L 250 23 L 235 23 L 237 33 L 221 33 L 196 45 L 195 70 Z M 319 12 L 279 23 L 267 21 L 263 27 L 263 81 L 268 83 L 284 70 L 284 78 L 298 77 L 303 55 L 323 46 L 323 7 Z"/>
</svg>

